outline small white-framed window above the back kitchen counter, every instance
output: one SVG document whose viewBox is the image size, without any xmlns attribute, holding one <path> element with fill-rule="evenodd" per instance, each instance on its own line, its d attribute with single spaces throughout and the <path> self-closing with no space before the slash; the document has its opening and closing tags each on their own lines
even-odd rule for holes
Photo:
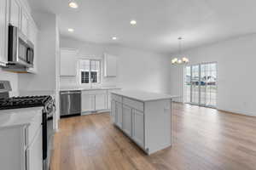
<svg viewBox="0 0 256 170">
<path fill-rule="evenodd" d="M 79 60 L 80 83 L 100 83 L 101 61 L 96 59 Z"/>
</svg>

